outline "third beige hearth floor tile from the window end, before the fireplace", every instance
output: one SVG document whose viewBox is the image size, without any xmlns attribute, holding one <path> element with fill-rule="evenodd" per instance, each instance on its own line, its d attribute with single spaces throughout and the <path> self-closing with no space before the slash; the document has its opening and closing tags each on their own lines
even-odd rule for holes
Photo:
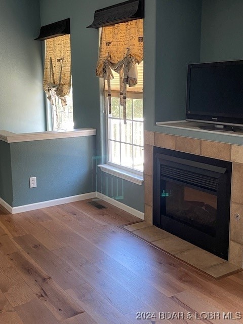
<svg viewBox="0 0 243 324">
<path fill-rule="evenodd" d="M 152 244 L 170 254 L 177 254 L 195 248 L 194 245 L 172 234 L 166 238 L 154 241 Z"/>
</svg>

